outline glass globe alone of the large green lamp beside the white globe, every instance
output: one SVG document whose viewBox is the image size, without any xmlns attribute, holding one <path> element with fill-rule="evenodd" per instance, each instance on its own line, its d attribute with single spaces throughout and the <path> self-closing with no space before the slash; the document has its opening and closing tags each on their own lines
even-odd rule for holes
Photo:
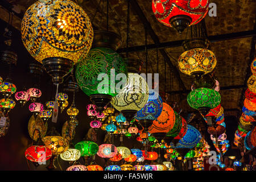
<svg viewBox="0 0 256 182">
<path fill-rule="evenodd" d="M 122 57 L 113 49 L 96 47 L 90 49 L 87 56 L 83 56 L 76 67 L 76 80 L 81 90 L 88 96 L 92 94 L 109 94 L 115 96 L 117 92 L 111 90 L 111 85 L 119 81 L 110 81 L 110 69 L 113 73 L 125 73 L 126 64 Z M 104 80 L 98 80 L 100 74 L 108 75 Z M 98 89 L 99 87 L 99 89 Z"/>
</svg>

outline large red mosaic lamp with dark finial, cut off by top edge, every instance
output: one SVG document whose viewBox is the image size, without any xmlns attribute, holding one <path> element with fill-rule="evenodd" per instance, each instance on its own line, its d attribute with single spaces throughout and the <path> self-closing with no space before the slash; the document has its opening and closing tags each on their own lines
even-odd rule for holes
<svg viewBox="0 0 256 182">
<path fill-rule="evenodd" d="M 185 28 L 199 23 L 207 15 L 208 5 L 208 0 L 153 0 L 152 11 L 159 22 L 174 27 L 181 34 Z"/>
</svg>

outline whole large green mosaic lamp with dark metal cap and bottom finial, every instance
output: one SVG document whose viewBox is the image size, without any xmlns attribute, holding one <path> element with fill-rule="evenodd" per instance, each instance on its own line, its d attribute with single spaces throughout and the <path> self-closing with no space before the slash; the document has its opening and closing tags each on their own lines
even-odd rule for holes
<svg viewBox="0 0 256 182">
<path fill-rule="evenodd" d="M 76 67 L 76 80 L 82 91 L 103 111 L 115 92 L 115 75 L 125 73 L 126 64 L 115 50 L 121 45 L 121 37 L 114 32 L 94 31 L 92 49 L 82 57 Z"/>
</svg>

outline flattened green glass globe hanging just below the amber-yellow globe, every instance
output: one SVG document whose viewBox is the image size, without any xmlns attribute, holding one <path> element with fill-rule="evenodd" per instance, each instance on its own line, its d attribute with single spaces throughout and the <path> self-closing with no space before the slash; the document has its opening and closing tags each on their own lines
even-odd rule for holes
<svg viewBox="0 0 256 182">
<path fill-rule="evenodd" d="M 213 89 L 198 88 L 189 92 L 187 101 L 193 109 L 199 109 L 200 107 L 213 109 L 220 104 L 221 96 Z"/>
</svg>

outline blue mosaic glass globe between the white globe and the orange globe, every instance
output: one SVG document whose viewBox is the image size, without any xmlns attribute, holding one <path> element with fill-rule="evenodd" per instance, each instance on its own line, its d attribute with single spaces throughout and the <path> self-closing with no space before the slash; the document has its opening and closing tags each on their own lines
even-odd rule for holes
<svg viewBox="0 0 256 182">
<path fill-rule="evenodd" d="M 141 119 L 155 120 L 162 113 L 162 109 L 163 109 L 162 98 L 154 90 L 150 89 L 148 93 L 149 95 L 148 95 L 147 103 L 135 115 L 135 119 L 137 120 L 141 120 Z"/>
</svg>

